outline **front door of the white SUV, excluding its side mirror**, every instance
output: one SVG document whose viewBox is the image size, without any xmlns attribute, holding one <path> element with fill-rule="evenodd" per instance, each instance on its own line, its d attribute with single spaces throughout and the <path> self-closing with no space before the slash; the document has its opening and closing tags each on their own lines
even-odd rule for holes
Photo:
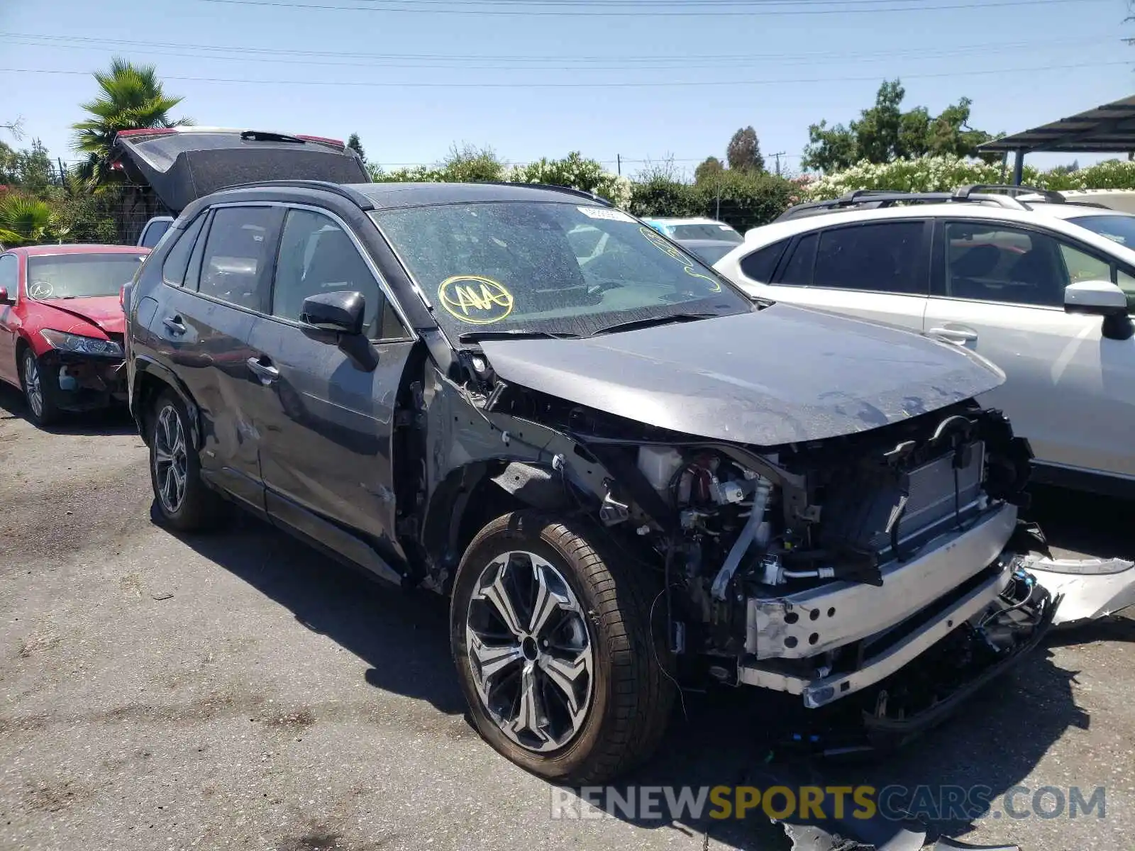
<svg viewBox="0 0 1135 851">
<path fill-rule="evenodd" d="M 934 252 L 926 329 L 1006 372 L 982 402 L 1039 462 L 1135 475 L 1135 339 L 1063 311 L 1068 284 L 1117 280 L 1110 259 L 1040 228 L 960 218 L 941 222 Z"/>
</svg>

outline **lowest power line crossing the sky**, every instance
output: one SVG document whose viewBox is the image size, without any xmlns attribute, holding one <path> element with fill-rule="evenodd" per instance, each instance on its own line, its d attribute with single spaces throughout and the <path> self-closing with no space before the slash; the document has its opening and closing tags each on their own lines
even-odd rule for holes
<svg viewBox="0 0 1135 851">
<path fill-rule="evenodd" d="M 976 77 L 998 74 L 1040 73 L 1049 70 L 1068 70 L 1073 68 L 1104 68 L 1116 65 L 1128 65 L 1126 60 L 1111 62 L 1071 62 L 1067 65 L 1040 65 L 1017 68 L 989 68 L 983 70 L 949 70 L 935 74 L 905 74 L 907 79 L 932 79 L 939 77 Z M 89 76 L 86 70 L 59 70 L 51 68 L 0 68 L 0 71 L 9 74 L 67 74 Z M 673 89 L 701 87 L 701 86 L 745 86 L 745 85 L 793 85 L 805 83 L 832 83 L 832 82 L 877 82 L 878 75 L 871 76 L 838 76 L 838 77 L 799 77 L 794 79 L 713 79 L 713 81 L 644 81 L 644 82 L 600 82 L 600 83 L 432 83 L 422 81 L 411 82 L 373 82 L 363 79 L 244 79 L 234 77 L 193 77 L 163 75 L 162 79 L 178 79 L 192 83 L 243 83 L 246 85 L 292 85 L 292 86 L 362 86 L 377 89 Z"/>
</svg>

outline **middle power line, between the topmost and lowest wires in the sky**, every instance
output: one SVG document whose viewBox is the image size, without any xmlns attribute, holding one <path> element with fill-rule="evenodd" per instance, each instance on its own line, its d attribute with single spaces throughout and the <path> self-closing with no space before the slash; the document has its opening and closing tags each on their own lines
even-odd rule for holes
<svg viewBox="0 0 1135 851">
<path fill-rule="evenodd" d="M 941 59 L 955 56 L 964 56 L 969 53 L 981 53 L 987 49 L 995 48 L 1000 52 L 1009 50 L 1036 50 L 1037 48 L 1068 48 L 1068 47 L 1079 47 L 1079 45 L 1093 45 L 1093 44 L 1110 44 L 1116 40 L 1113 36 L 1095 36 L 1092 39 L 1056 39 L 1050 41 L 1040 42 L 1008 42 L 1008 43 L 986 43 L 986 44 L 968 44 L 960 45 L 957 48 L 948 49 L 907 49 L 898 51 L 864 51 L 864 52 L 850 52 L 850 53 L 832 53 L 830 51 L 817 52 L 817 53 L 797 53 L 797 54 L 762 54 L 759 60 L 755 61 L 751 53 L 740 54 L 740 56 L 714 56 L 714 57 L 684 57 L 681 59 L 671 59 L 666 62 L 665 57 L 650 57 L 650 58 L 634 58 L 634 57 L 594 57 L 594 61 L 623 61 L 627 59 L 637 60 L 633 64 L 622 65 L 622 66 L 596 66 L 586 62 L 579 62 L 571 66 L 528 66 L 528 62 L 541 62 L 541 61 L 573 61 L 572 57 L 554 58 L 554 57 L 507 57 L 507 56 L 480 56 L 480 57 L 461 57 L 461 56 L 448 56 L 445 54 L 367 54 L 367 53 L 330 53 L 321 51 L 288 51 L 288 50 L 274 50 L 264 48 L 228 48 L 221 45 L 212 44 L 149 44 L 146 42 L 137 41 L 126 41 L 118 39 L 86 39 L 81 36 L 56 36 L 56 35 L 31 35 L 24 33 L 0 33 L 0 37 L 5 37 L 9 44 L 23 44 L 28 47 L 39 48 L 60 48 L 68 50 L 92 50 L 92 45 L 116 45 L 118 48 L 128 47 L 134 53 L 152 53 L 155 56 L 163 57 L 185 57 L 191 59 L 217 59 L 220 61 L 255 61 L 255 62 L 286 62 L 288 65 L 304 65 L 304 66 L 325 66 L 325 67 L 344 67 L 344 68 L 457 68 L 457 69 L 476 69 L 476 70 L 516 70 L 516 69 L 528 69 L 528 70 L 558 70 L 558 71 L 614 71 L 614 70 L 673 70 L 673 69 L 684 69 L 684 68 L 720 68 L 723 62 L 729 62 L 730 68 L 743 68 L 743 67 L 762 67 L 767 64 L 768 60 L 775 59 L 779 65 L 818 65 L 818 64 L 835 64 L 841 61 L 873 61 L 873 60 L 893 60 L 897 58 L 918 58 L 918 59 Z M 68 41 L 78 41 L 78 44 L 64 43 Z M 142 49 L 138 49 L 142 48 Z M 188 51 L 203 51 L 203 52 L 178 52 L 179 50 Z M 243 56 L 216 56 L 217 52 L 234 52 L 239 51 Z M 338 56 L 338 57 L 355 57 L 355 58 L 367 58 L 373 61 L 369 62 L 354 62 L 354 61 L 322 61 L 313 59 L 299 59 L 296 56 Z M 574 58 L 580 59 L 580 58 Z M 507 60 L 510 62 L 516 62 L 512 65 L 480 65 L 479 62 L 501 62 Z M 699 61 L 700 60 L 700 61 Z M 402 64 L 405 62 L 405 64 Z M 438 64 L 435 64 L 438 62 Z M 657 62 L 654 65 L 648 65 L 646 62 Z M 471 64 L 474 67 L 470 67 Z M 519 64 L 519 65 L 518 65 Z"/>
</svg>

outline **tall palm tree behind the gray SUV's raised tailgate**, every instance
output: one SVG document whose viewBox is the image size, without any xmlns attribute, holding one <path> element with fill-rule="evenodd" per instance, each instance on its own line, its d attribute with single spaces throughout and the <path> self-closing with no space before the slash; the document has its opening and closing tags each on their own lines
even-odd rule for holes
<svg viewBox="0 0 1135 851">
<path fill-rule="evenodd" d="M 152 65 L 134 65 L 126 59 L 115 59 L 108 71 L 95 71 L 94 78 L 102 90 L 99 96 L 82 104 L 90 113 L 84 121 L 73 124 L 74 149 L 85 153 L 79 166 L 81 176 L 92 184 L 114 178 L 110 168 L 110 148 L 118 130 L 182 127 L 193 124 L 188 118 L 169 117 L 180 98 L 168 96 Z"/>
</svg>

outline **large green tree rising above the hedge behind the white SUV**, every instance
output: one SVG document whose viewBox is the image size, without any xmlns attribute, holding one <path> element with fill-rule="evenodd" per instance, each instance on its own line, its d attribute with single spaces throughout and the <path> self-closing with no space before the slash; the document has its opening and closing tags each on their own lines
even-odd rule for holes
<svg viewBox="0 0 1135 851">
<path fill-rule="evenodd" d="M 972 101 L 962 98 L 932 116 L 925 107 L 902 111 L 906 90 L 898 79 L 884 81 L 875 106 L 848 126 L 827 121 L 808 128 L 804 167 L 838 171 L 856 162 L 884 163 L 926 154 L 974 157 L 977 145 L 992 138 L 968 126 Z"/>
</svg>

